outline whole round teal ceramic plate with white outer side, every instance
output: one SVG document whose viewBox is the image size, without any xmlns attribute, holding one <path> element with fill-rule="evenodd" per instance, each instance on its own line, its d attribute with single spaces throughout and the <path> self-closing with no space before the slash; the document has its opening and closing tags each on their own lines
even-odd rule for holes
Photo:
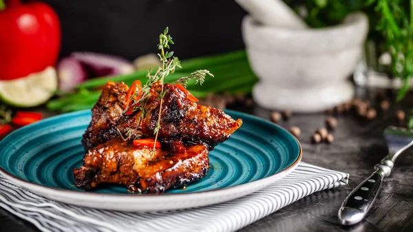
<svg viewBox="0 0 413 232">
<path fill-rule="evenodd" d="M 85 192 L 74 186 L 80 167 L 81 137 L 89 110 L 63 114 L 23 127 L 0 142 L 0 173 L 15 184 L 52 200 L 99 209 L 161 211 L 215 204 L 266 187 L 301 160 L 298 141 L 281 127 L 255 116 L 226 111 L 243 125 L 210 152 L 206 178 L 187 189 L 160 195 L 127 193 L 125 187 Z"/>
</svg>

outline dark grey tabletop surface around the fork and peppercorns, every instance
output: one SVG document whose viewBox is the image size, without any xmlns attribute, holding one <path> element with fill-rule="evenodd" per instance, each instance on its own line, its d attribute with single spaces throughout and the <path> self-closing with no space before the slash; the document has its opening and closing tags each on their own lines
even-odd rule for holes
<svg viewBox="0 0 413 232">
<path fill-rule="evenodd" d="M 373 107 L 378 108 L 374 92 L 358 88 L 357 96 L 370 99 Z M 394 92 L 388 91 L 386 96 L 394 103 Z M 413 231 L 413 149 L 396 161 L 392 175 L 384 180 L 381 193 L 365 220 L 355 226 L 341 226 L 337 220 L 337 211 L 344 198 L 387 154 L 383 129 L 388 125 L 399 125 L 394 112 L 396 109 L 410 112 L 413 101 L 409 99 L 413 100 L 413 94 L 400 104 L 392 104 L 387 112 L 378 110 L 377 118 L 370 121 L 357 119 L 351 114 L 338 116 L 335 142 L 331 145 L 310 143 L 315 129 L 324 126 L 326 114 L 293 115 L 290 120 L 280 122 L 279 125 L 286 128 L 293 125 L 301 128 L 299 140 L 305 162 L 350 173 L 350 182 L 337 189 L 314 193 L 240 231 Z M 231 108 L 267 119 L 271 115 L 271 112 L 255 105 Z M 31 232 L 37 229 L 0 208 L 0 231 Z"/>
</svg>

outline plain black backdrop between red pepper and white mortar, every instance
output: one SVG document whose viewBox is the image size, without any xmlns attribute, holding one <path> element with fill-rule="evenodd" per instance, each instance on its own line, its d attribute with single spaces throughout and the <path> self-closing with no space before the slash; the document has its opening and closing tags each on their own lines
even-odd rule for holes
<svg viewBox="0 0 413 232">
<path fill-rule="evenodd" d="M 72 51 L 127 59 L 155 53 L 159 34 L 169 34 L 180 59 L 244 48 L 246 12 L 233 0 L 42 0 L 61 19 L 61 56 Z"/>
</svg>

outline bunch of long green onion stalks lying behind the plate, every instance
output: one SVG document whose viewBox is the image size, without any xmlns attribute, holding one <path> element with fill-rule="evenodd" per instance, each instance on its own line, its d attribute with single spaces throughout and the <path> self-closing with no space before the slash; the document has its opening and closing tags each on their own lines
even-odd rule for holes
<svg viewBox="0 0 413 232">
<path fill-rule="evenodd" d="M 228 91 L 231 94 L 250 94 L 252 87 L 257 83 L 257 76 L 251 70 L 244 50 L 207 56 L 182 61 L 182 68 L 165 77 L 165 82 L 172 83 L 183 76 L 189 76 L 194 70 L 207 69 L 214 77 L 205 78 L 202 85 L 195 85 L 195 80 L 189 81 L 187 89 L 197 98 L 204 98 L 208 94 L 218 94 Z M 151 72 L 153 74 L 154 71 Z M 76 87 L 76 92 L 61 94 L 47 103 L 47 108 L 59 112 L 72 112 L 81 109 L 90 109 L 100 96 L 100 88 L 107 81 L 124 82 L 131 85 L 139 80 L 147 81 L 147 71 L 136 71 L 121 76 L 105 76 L 86 81 Z"/>
</svg>

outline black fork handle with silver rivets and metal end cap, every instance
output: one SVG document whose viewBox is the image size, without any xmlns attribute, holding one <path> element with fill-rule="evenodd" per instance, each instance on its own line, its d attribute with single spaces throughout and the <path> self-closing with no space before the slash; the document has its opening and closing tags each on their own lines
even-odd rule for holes
<svg viewBox="0 0 413 232">
<path fill-rule="evenodd" d="M 344 200 L 339 209 L 339 220 L 343 225 L 361 222 L 379 193 L 383 181 L 383 169 L 377 168 L 366 180 L 363 180 Z"/>
</svg>

